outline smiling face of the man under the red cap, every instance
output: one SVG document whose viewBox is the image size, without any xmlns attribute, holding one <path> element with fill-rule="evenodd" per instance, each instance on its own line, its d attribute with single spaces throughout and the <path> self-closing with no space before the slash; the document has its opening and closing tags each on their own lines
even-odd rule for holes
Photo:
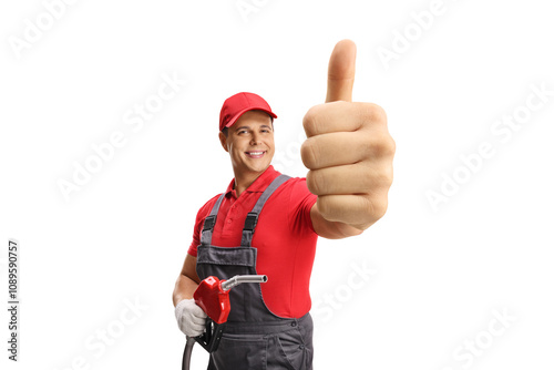
<svg viewBox="0 0 554 370">
<path fill-rule="evenodd" d="M 228 127 L 227 136 L 219 133 L 219 140 L 235 175 L 261 173 L 271 164 L 275 153 L 271 117 L 261 111 L 248 111 Z"/>
</svg>

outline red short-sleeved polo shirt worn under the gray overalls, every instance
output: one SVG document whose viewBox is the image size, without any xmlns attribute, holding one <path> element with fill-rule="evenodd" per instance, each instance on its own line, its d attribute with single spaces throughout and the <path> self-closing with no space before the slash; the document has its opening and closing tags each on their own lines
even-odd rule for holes
<svg viewBox="0 0 554 370">
<path fill-rule="evenodd" d="M 212 237 L 218 247 L 240 246 L 246 215 L 266 187 L 280 173 L 269 166 L 239 197 L 233 179 L 225 192 Z M 204 219 L 219 195 L 209 199 L 196 216 L 188 254 L 196 257 Z M 309 280 L 316 255 L 317 234 L 310 209 L 317 196 L 306 186 L 306 178 L 294 177 L 267 199 L 258 217 L 252 246 L 258 249 L 256 271 L 267 275 L 261 294 L 267 308 L 277 316 L 300 318 L 311 308 Z"/>
</svg>

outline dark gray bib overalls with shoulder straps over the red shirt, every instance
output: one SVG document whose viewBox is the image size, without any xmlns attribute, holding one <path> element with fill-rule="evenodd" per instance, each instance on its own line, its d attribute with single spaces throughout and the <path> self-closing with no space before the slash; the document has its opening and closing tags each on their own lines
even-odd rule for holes
<svg viewBox="0 0 554 370">
<path fill-rule="evenodd" d="M 257 249 L 252 244 L 258 215 L 279 185 L 289 177 L 278 176 L 261 194 L 246 217 L 239 247 L 212 245 L 217 213 L 225 194 L 217 199 L 204 222 L 196 271 L 201 279 L 216 276 L 257 275 Z M 267 216 L 266 216 L 267 217 Z M 269 222 L 266 218 L 266 222 Z M 270 276 L 268 277 L 271 278 Z M 259 284 L 242 284 L 229 291 L 230 314 L 218 349 L 209 356 L 208 370 L 289 369 L 310 370 L 314 347 L 311 316 L 281 318 L 266 307 Z"/>
</svg>

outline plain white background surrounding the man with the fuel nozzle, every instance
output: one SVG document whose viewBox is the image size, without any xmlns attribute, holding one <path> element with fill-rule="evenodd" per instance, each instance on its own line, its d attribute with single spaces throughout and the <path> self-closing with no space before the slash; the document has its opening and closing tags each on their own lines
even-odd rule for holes
<svg viewBox="0 0 554 370">
<path fill-rule="evenodd" d="M 304 176 L 301 119 L 324 102 L 328 58 L 345 38 L 358 47 L 353 99 L 387 111 L 394 183 L 387 215 L 362 236 L 319 240 L 315 367 L 552 369 L 554 96 L 507 140 L 491 131 L 531 85 L 554 90 L 547 2 L 444 0 L 388 69 L 378 49 L 417 32 L 410 14 L 431 1 L 255 3 L 245 18 L 235 0 L 76 1 L 17 52 L 45 6 L 2 2 L 2 297 L 9 238 L 22 264 L 20 362 L 7 360 L 2 309 L 2 369 L 178 369 L 174 281 L 198 207 L 233 176 L 217 141 L 223 101 L 264 96 L 279 116 L 286 161 L 276 166 Z M 186 83 L 133 132 L 125 113 L 163 74 Z M 119 131 L 125 145 L 64 199 L 59 181 Z M 442 174 L 463 175 L 460 156 L 484 142 L 494 155 L 433 209 L 428 192 L 441 192 Z M 356 271 L 368 267 L 366 281 Z M 133 316 L 126 300 L 146 308 Z M 512 321 L 492 336 L 495 310 Z M 106 329 L 116 338 L 100 353 Z M 199 347 L 193 361 L 205 368 Z"/>
</svg>

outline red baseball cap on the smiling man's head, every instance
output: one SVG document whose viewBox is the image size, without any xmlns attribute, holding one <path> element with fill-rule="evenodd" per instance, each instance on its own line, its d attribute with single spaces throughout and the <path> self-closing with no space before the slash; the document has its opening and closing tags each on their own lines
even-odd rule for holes
<svg viewBox="0 0 554 370">
<path fill-rule="evenodd" d="M 271 107 L 259 95 L 240 92 L 228 97 L 223 103 L 222 112 L 219 113 L 219 131 L 224 127 L 230 127 L 245 112 L 259 110 L 269 114 L 271 117 L 277 119 L 277 115 L 271 112 Z"/>
</svg>

